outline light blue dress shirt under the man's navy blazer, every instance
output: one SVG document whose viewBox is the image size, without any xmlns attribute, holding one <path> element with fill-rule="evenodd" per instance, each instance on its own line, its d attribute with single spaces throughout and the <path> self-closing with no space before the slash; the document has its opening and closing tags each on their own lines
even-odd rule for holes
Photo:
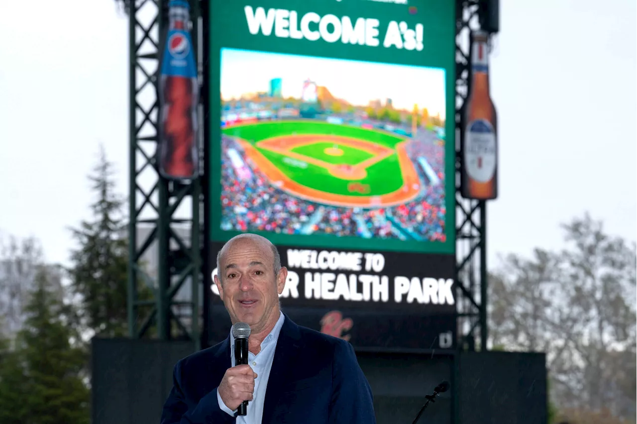
<svg viewBox="0 0 637 424">
<path fill-rule="evenodd" d="M 261 343 L 261 351 L 259 351 L 258 355 L 248 352 L 248 365 L 252 367 L 252 371 L 257 373 L 257 378 L 254 379 L 254 400 L 251 400 L 248 403 L 248 413 L 245 416 L 237 416 L 236 424 L 261 424 L 263 404 L 266 400 L 266 390 L 268 388 L 268 378 L 270 376 L 270 370 L 272 369 L 272 360 L 275 357 L 276 342 L 278 341 L 278 335 L 281 332 L 284 319 L 285 316 L 283 313 L 280 313 L 275 327 L 271 332 L 269 332 L 268 336 L 263 339 Z M 234 337 L 232 332 L 230 334 L 230 362 L 231 367 L 236 365 L 236 361 L 234 360 Z M 229 407 L 225 406 L 224 401 L 221 400 L 219 392 L 217 392 L 217 401 L 219 402 L 219 407 L 222 411 L 234 416 L 236 410 L 231 411 Z"/>
</svg>

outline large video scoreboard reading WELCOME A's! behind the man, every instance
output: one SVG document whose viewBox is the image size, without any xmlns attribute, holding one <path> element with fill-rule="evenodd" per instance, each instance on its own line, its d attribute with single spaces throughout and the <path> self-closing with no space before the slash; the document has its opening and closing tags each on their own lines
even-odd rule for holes
<svg viewBox="0 0 637 424">
<path fill-rule="evenodd" d="M 253 232 L 295 322 L 359 350 L 455 348 L 455 8 L 448 0 L 211 0 L 211 276 Z"/>
</svg>

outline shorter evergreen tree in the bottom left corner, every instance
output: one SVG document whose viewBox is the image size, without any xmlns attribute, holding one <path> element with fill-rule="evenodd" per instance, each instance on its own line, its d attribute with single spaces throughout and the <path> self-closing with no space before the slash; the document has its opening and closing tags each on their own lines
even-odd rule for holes
<svg viewBox="0 0 637 424">
<path fill-rule="evenodd" d="M 15 349 L 4 343 L 0 365 L 0 422 L 88 424 L 87 353 L 68 325 L 72 310 L 46 267 L 39 267 Z"/>
</svg>

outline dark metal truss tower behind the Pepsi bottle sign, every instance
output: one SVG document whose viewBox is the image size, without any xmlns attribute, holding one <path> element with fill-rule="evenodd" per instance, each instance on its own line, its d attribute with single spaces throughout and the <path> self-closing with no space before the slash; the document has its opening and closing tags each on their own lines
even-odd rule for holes
<svg viewBox="0 0 637 424">
<path fill-rule="evenodd" d="M 201 177 L 186 184 L 168 181 L 155 164 L 157 84 L 167 6 L 168 0 L 124 3 L 130 55 L 129 336 L 191 340 L 198 349 L 203 288 Z M 191 1 L 190 15 L 197 48 L 198 1 Z M 198 65 L 201 76 L 201 60 Z M 151 294 L 141 297 L 141 293 Z"/>
</svg>

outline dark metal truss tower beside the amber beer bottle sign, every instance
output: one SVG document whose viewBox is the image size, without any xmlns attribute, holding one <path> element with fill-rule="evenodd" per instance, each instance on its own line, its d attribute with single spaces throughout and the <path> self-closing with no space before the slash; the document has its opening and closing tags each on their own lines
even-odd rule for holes
<svg viewBox="0 0 637 424">
<path fill-rule="evenodd" d="M 481 0 L 456 0 L 455 18 L 455 215 L 458 334 L 460 350 L 487 350 L 487 206 L 464 199 L 460 190 L 460 132 L 469 94 L 469 35 L 480 28 Z"/>
</svg>

